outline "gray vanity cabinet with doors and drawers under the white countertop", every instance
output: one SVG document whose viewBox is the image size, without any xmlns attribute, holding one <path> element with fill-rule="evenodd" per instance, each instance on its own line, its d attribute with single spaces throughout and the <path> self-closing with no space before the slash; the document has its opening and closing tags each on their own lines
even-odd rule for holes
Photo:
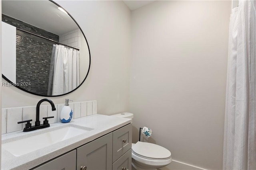
<svg viewBox="0 0 256 170">
<path fill-rule="evenodd" d="M 130 123 L 33 170 L 131 170 L 131 148 Z"/>
</svg>

